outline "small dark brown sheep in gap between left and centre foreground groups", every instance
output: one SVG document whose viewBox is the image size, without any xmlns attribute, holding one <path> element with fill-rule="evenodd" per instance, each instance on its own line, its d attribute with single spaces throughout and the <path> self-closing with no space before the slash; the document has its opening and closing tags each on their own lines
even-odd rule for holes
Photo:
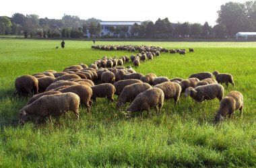
<svg viewBox="0 0 256 168">
<path fill-rule="evenodd" d="M 115 86 L 110 83 L 102 83 L 92 86 L 92 99 L 96 102 L 96 97 L 106 97 L 110 101 L 114 101 L 113 95 L 116 91 Z"/>
</svg>

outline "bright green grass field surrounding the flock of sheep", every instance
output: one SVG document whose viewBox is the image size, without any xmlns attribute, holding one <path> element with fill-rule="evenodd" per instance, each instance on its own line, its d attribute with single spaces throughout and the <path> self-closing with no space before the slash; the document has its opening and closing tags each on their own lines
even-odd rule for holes
<svg viewBox="0 0 256 168">
<path fill-rule="evenodd" d="M 162 115 L 145 113 L 127 120 L 115 103 L 98 99 L 90 113 L 80 108 L 42 124 L 18 124 L 18 111 L 28 101 L 14 97 L 15 78 L 49 69 L 62 71 L 97 58 L 130 56 L 131 52 L 91 49 L 92 42 L 66 40 L 0 40 L 0 167 L 256 167 L 256 42 L 97 42 L 195 48 L 194 53 L 161 54 L 137 72 L 187 78 L 201 71 L 231 73 L 241 91 L 244 116 L 215 126 L 218 99 L 180 104 L 165 101 Z M 129 64 L 127 64 L 128 66 Z M 117 99 L 117 97 L 115 97 Z M 127 105 L 128 106 L 128 105 Z M 124 109 L 125 110 L 125 109 Z"/>
</svg>

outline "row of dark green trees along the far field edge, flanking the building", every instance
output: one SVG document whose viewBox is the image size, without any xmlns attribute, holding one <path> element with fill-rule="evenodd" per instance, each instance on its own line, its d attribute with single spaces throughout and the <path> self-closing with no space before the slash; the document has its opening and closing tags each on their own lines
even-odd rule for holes
<svg viewBox="0 0 256 168">
<path fill-rule="evenodd" d="M 134 24 L 131 28 L 131 38 L 172 38 L 172 37 L 211 37 L 234 36 L 237 32 L 256 32 L 256 1 L 245 3 L 228 2 L 221 5 L 215 26 L 207 22 L 170 23 L 168 18 Z M 125 37 L 127 26 L 109 27 L 113 36 Z M 25 38 L 84 38 L 90 34 L 99 35 L 100 19 L 79 19 L 78 16 L 65 15 L 61 19 L 39 18 L 38 15 L 23 15 L 14 13 L 11 17 L 0 16 L 0 34 L 24 35 Z"/>
</svg>

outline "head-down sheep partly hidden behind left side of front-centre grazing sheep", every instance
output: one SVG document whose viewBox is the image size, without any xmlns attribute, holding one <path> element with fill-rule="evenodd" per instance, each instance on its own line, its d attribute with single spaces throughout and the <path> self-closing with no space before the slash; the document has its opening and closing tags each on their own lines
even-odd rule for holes
<svg viewBox="0 0 256 168">
<path fill-rule="evenodd" d="M 148 83 L 134 83 L 134 84 L 125 86 L 123 88 L 123 91 L 119 95 L 119 98 L 117 99 L 117 107 L 120 108 L 126 102 L 133 101 L 136 95 L 150 88 L 152 87 Z"/>
</svg>

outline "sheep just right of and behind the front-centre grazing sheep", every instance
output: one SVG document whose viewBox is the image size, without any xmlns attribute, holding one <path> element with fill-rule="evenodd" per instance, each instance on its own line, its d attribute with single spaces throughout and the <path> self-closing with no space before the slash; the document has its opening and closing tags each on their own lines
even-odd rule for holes
<svg viewBox="0 0 256 168">
<path fill-rule="evenodd" d="M 178 83 L 174 83 L 171 81 L 160 83 L 158 85 L 154 85 L 154 87 L 158 87 L 164 91 L 164 99 L 172 99 L 174 98 L 175 105 L 179 103 L 179 97 L 181 95 L 181 85 Z"/>
</svg>

